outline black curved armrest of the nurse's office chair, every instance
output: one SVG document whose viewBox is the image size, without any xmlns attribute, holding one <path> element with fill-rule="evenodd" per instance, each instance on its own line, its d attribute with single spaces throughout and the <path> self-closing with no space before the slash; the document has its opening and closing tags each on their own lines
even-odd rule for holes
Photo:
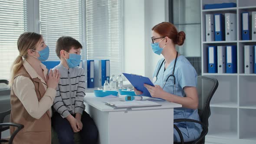
<svg viewBox="0 0 256 144">
<path fill-rule="evenodd" d="M 194 122 L 194 123 L 200 124 L 203 127 L 203 131 L 201 132 L 200 137 L 195 139 L 194 143 L 197 143 L 197 142 L 201 141 L 203 139 L 203 137 L 205 137 L 206 134 L 208 133 L 207 126 L 205 124 L 203 124 L 201 121 L 197 121 L 197 120 L 193 120 L 193 119 L 188 119 L 188 118 L 174 119 L 174 123 L 177 123 L 177 122 Z M 181 143 L 181 144 L 183 144 L 183 143 Z"/>
</svg>

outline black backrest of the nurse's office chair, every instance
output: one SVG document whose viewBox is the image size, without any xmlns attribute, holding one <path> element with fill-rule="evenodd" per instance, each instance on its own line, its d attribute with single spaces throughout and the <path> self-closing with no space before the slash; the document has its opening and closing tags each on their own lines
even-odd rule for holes
<svg viewBox="0 0 256 144">
<path fill-rule="evenodd" d="M 208 127 L 208 118 L 210 117 L 210 100 L 213 97 L 219 83 L 215 78 L 208 76 L 197 77 L 197 92 L 198 92 L 198 114 L 201 122 Z"/>
</svg>

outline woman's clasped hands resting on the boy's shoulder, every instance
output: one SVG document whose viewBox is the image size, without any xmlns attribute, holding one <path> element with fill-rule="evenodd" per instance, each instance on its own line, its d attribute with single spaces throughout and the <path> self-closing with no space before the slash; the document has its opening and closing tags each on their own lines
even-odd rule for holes
<svg viewBox="0 0 256 144">
<path fill-rule="evenodd" d="M 47 80 L 47 86 L 48 88 L 56 89 L 60 79 L 60 74 L 58 69 L 50 69 L 50 72 L 48 74 L 48 80 Z"/>
</svg>

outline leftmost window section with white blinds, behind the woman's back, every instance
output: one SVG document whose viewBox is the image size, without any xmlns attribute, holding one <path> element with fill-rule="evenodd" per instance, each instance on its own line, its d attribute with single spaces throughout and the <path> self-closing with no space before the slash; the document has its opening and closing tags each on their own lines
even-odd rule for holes
<svg viewBox="0 0 256 144">
<path fill-rule="evenodd" d="M 10 79 L 10 69 L 19 55 L 17 39 L 27 31 L 26 0 L 0 0 L 0 79 Z"/>
</svg>

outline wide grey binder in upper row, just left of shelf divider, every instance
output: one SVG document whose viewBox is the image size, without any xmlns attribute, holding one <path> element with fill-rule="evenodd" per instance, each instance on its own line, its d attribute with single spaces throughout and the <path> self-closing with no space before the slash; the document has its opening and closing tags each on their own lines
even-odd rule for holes
<svg viewBox="0 0 256 144">
<path fill-rule="evenodd" d="M 226 41 L 236 40 L 236 13 L 225 13 L 225 33 Z"/>
</svg>

